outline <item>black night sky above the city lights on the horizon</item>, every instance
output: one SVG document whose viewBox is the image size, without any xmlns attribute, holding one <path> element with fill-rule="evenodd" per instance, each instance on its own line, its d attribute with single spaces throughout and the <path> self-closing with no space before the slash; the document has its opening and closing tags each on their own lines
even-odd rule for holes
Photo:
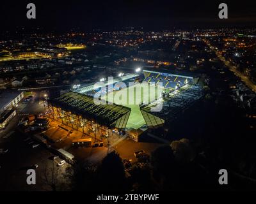
<svg viewBox="0 0 256 204">
<path fill-rule="evenodd" d="M 26 4 L 36 4 L 36 19 L 26 18 Z M 228 4 L 228 19 L 218 18 L 218 4 Z M 122 29 L 135 27 L 189 29 L 252 27 L 256 25 L 255 1 L 13 1 L 1 2 L 1 31 L 26 27 L 65 31 L 69 29 Z"/>
</svg>

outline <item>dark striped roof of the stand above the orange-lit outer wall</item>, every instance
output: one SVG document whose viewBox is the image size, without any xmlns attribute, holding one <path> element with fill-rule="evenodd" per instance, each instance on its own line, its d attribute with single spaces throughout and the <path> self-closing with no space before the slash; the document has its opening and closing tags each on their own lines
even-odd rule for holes
<svg viewBox="0 0 256 204">
<path fill-rule="evenodd" d="M 81 115 L 84 119 L 94 120 L 108 127 L 118 126 L 115 122 L 124 115 L 129 117 L 129 113 L 131 112 L 131 108 L 116 105 L 115 103 L 96 105 L 92 96 L 86 96 L 72 91 L 49 100 L 49 103 L 52 106 L 59 107 L 76 115 Z"/>
</svg>

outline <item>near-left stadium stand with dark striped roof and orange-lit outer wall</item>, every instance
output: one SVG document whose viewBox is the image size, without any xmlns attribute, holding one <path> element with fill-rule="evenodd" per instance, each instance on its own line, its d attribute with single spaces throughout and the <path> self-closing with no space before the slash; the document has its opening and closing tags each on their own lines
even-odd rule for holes
<svg viewBox="0 0 256 204">
<path fill-rule="evenodd" d="M 111 129 L 124 129 L 131 108 L 120 105 L 96 105 L 92 96 L 67 92 L 48 102 L 52 119 L 66 124 L 86 135 L 108 135 Z"/>
</svg>

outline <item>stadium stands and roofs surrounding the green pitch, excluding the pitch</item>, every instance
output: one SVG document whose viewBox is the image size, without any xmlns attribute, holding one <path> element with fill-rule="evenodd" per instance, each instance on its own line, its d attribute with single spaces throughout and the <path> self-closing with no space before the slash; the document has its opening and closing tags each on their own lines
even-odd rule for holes
<svg viewBox="0 0 256 204">
<path fill-rule="evenodd" d="M 152 106 L 156 101 L 146 105 L 138 105 L 138 110 L 143 116 L 144 123 L 141 127 L 131 128 L 127 122 L 131 119 L 132 108 L 125 105 L 113 104 L 96 105 L 93 96 L 100 91 L 101 94 L 118 92 L 124 87 L 116 86 L 118 82 L 128 85 L 138 78 L 150 85 L 161 85 L 163 88 L 163 108 L 159 112 L 152 112 Z M 160 83 L 161 82 L 161 83 Z M 90 135 L 90 131 L 99 131 L 101 135 L 108 135 L 111 129 L 125 131 L 134 140 L 139 140 L 139 135 L 145 129 L 163 127 L 169 123 L 179 112 L 186 110 L 195 101 L 202 97 L 202 89 L 198 85 L 198 76 L 191 73 L 177 73 L 168 70 L 143 69 L 141 75 L 128 74 L 114 78 L 112 82 L 102 82 L 95 85 L 79 87 L 61 95 L 58 98 L 49 100 L 51 117 L 72 128 L 83 131 Z M 141 131 L 143 129 L 143 131 Z"/>
</svg>

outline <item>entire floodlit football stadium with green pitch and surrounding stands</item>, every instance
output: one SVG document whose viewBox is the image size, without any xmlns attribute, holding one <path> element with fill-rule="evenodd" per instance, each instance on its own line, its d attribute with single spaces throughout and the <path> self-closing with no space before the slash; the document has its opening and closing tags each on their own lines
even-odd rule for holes
<svg viewBox="0 0 256 204">
<path fill-rule="evenodd" d="M 140 81 L 140 82 L 139 82 Z M 100 129 L 131 131 L 163 126 L 202 96 L 198 77 L 144 69 L 102 78 L 49 101 L 52 117 L 90 133 Z"/>
</svg>

